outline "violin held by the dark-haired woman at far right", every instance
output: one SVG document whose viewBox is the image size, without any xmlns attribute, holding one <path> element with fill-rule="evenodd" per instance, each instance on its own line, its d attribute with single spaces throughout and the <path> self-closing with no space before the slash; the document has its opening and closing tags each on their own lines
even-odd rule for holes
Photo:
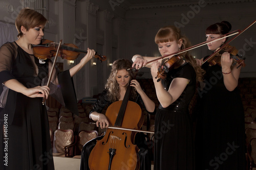
<svg viewBox="0 0 256 170">
<path fill-rule="evenodd" d="M 224 52 L 228 52 L 230 53 L 230 58 L 233 59 L 233 63 L 232 66 L 236 65 L 238 63 L 238 67 L 243 66 L 245 67 L 245 63 L 244 63 L 244 59 L 241 59 L 241 57 L 239 57 L 238 54 L 238 50 L 236 47 L 231 46 L 229 44 L 224 45 L 223 47 L 218 48 L 216 50 L 216 53 L 212 54 L 211 56 L 209 56 L 208 58 L 206 58 L 202 64 L 204 64 L 206 61 L 209 63 L 210 66 L 212 65 L 216 65 L 218 64 L 219 66 L 221 66 L 221 55 Z"/>
</svg>

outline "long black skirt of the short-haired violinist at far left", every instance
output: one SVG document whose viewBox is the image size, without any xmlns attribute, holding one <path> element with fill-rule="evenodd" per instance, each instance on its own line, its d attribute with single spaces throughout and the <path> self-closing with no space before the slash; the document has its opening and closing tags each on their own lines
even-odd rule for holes
<svg viewBox="0 0 256 170">
<path fill-rule="evenodd" d="M 49 123 L 42 99 L 28 98 L 21 93 L 17 93 L 16 99 L 13 123 L 5 129 L 7 135 L 3 134 L 0 124 L 1 169 L 53 170 Z"/>
</svg>

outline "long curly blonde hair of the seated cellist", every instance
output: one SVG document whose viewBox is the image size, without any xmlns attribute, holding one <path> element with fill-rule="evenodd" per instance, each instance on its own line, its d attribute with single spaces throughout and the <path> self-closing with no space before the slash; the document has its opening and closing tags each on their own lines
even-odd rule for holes
<svg viewBox="0 0 256 170">
<path fill-rule="evenodd" d="M 108 78 L 108 81 L 105 84 L 105 89 L 108 90 L 106 95 L 108 96 L 108 98 L 111 102 L 118 101 L 120 98 L 119 85 L 116 81 L 117 72 L 121 69 L 125 69 L 127 72 L 129 72 L 129 76 L 131 78 L 130 81 L 131 81 L 132 79 L 135 78 L 135 72 L 133 72 L 132 70 L 127 70 L 128 68 L 131 68 L 131 67 L 132 67 L 132 63 L 126 59 L 118 59 L 118 60 L 114 61 L 114 63 L 112 64 L 110 76 Z M 127 85 L 126 85 L 126 88 L 127 88 Z M 117 93 L 117 91 L 118 91 L 118 93 Z M 131 89 L 131 99 L 135 99 L 136 95 L 137 95 L 137 93 L 136 93 L 135 89 L 132 88 Z"/>
</svg>

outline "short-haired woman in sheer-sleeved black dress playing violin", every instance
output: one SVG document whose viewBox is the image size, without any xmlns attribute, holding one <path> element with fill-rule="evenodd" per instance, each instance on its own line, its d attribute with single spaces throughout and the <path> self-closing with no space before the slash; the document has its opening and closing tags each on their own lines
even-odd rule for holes
<svg viewBox="0 0 256 170">
<path fill-rule="evenodd" d="M 88 53 L 79 64 L 64 72 L 54 69 L 50 86 L 45 86 L 52 68 L 50 59 L 40 61 L 33 55 L 32 45 L 39 44 L 44 36 L 47 19 L 31 9 L 22 9 L 16 20 L 18 39 L 0 48 L 1 121 L 0 147 L 1 169 L 54 169 L 52 147 L 46 106 L 42 98 L 54 95 L 71 111 L 77 106 L 71 77 L 95 54 Z M 63 96 L 61 95 L 63 94 Z M 77 110 L 78 112 L 78 110 Z M 4 116 L 4 117 L 3 117 Z M 7 124 L 6 124 L 7 123 Z M 3 124 L 5 132 L 3 136 Z M 8 155 L 8 164 L 4 160 Z M 3 160 L 4 159 L 4 160 Z"/>
</svg>

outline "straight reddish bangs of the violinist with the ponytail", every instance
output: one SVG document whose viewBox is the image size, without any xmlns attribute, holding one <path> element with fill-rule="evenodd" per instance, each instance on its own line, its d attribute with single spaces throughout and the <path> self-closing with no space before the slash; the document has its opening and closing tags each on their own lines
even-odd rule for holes
<svg viewBox="0 0 256 170">
<path fill-rule="evenodd" d="M 171 42 L 177 39 L 177 36 L 169 29 L 162 28 L 158 31 L 155 37 L 155 43 Z"/>
</svg>

